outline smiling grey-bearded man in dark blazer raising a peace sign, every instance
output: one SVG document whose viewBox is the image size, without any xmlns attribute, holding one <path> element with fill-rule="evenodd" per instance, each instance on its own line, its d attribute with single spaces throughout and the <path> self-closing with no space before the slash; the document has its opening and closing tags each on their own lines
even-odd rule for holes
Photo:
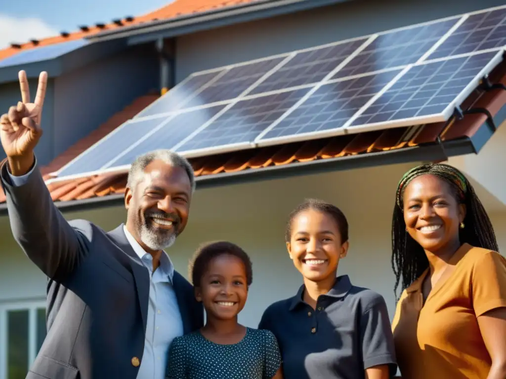
<svg viewBox="0 0 506 379">
<path fill-rule="evenodd" d="M 203 325 L 192 286 L 163 251 L 188 221 L 192 167 L 170 151 L 141 156 L 128 176 L 126 224 L 104 232 L 67 222 L 33 153 L 47 73 L 33 103 L 24 71 L 19 81 L 22 102 L 0 118 L 0 176 L 14 238 L 48 276 L 48 335 L 26 377 L 163 379 L 173 339 Z"/>
</svg>

